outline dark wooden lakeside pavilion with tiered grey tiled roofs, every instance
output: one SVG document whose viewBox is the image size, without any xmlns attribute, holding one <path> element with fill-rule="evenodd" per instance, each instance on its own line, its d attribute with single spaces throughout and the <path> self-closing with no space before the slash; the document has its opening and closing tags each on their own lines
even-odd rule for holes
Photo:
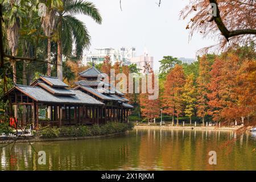
<svg viewBox="0 0 256 182">
<path fill-rule="evenodd" d="M 84 80 L 75 82 L 75 89 L 57 77 L 40 76 L 30 86 L 15 85 L 4 96 L 10 105 L 24 106 L 26 121 L 21 124 L 76 125 L 101 124 L 108 121 L 128 122 L 128 110 L 133 106 L 123 93 L 104 82 L 105 73 L 94 66 L 80 73 Z M 98 79 L 100 78 L 100 79 Z M 39 109 L 48 110 L 48 119 L 39 119 Z M 6 110 L 10 114 L 10 110 Z"/>
</svg>

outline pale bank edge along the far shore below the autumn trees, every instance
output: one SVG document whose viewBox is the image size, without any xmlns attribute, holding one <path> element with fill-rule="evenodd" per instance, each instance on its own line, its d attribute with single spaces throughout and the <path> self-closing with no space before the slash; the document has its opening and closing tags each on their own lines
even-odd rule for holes
<svg viewBox="0 0 256 182">
<path fill-rule="evenodd" d="M 134 126 L 134 129 L 185 129 L 185 130 L 239 130 L 237 127 L 207 127 L 207 126 Z"/>
</svg>

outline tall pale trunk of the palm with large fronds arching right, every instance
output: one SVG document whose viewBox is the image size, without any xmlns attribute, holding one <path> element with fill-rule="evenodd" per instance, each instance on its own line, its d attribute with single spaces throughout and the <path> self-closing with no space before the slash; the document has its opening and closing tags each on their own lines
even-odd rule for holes
<svg viewBox="0 0 256 182">
<path fill-rule="evenodd" d="M 63 67 L 62 67 L 62 44 L 61 44 L 61 29 L 62 29 L 62 16 L 59 21 L 59 35 L 57 40 L 57 77 L 63 81 Z"/>
</svg>

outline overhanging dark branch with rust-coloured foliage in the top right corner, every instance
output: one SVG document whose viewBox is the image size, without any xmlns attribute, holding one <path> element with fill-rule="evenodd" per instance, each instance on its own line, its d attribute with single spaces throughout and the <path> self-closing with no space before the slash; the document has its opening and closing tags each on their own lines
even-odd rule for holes
<svg viewBox="0 0 256 182">
<path fill-rule="evenodd" d="M 223 50 L 255 42 L 255 8 L 254 0 L 192 0 L 181 11 L 180 18 L 190 19 L 186 28 L 190 36 L 195 32 L 204 37 L 216 36 L 220 42 L 217 46 Z M 207 49 L 212 47 L 215 46 Z"/>
</svg>

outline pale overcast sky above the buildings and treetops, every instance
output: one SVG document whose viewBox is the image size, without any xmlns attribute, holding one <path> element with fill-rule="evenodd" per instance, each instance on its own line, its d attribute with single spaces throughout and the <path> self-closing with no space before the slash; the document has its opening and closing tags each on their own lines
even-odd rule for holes
<svg viewBox="0 0 256 182">
<path fill-rule="evenodd" d="M 188 0 L 89 0 L 100 10 L 103 22 L 95 23 L 87 16 L 77 16 L 86 24 L 92 37 L 90 51 L 99 47 L 135 47 L 137 56 L 144 47 L 154 56 L 154 69 L 163 56 L 195 58 L 196 51 L 214 44 L 212 39 L 203 39 L 195 34 L 189 41 L 185 30 L 188 19 L 179 19 L 180 10 Z"/>
</svg>

